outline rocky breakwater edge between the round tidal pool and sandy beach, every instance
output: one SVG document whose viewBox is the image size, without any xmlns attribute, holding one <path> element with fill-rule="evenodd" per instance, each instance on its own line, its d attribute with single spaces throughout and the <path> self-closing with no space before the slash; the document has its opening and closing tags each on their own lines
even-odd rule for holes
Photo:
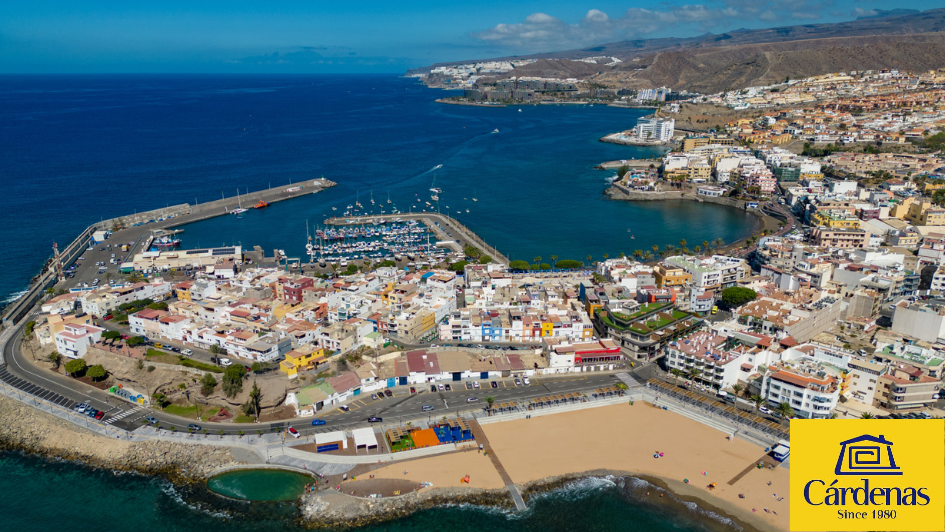
<svg viewBox="0 0 945 532">
<path fill-rule="evenodd" d="M 514 508 L 505 489 L 433 488 L 399 497 L 365 499 L 334 490 L 308 492 L 299 501 L 302 523 L 312 528 L 357 528 L 455 504 Z"/>
</svg>

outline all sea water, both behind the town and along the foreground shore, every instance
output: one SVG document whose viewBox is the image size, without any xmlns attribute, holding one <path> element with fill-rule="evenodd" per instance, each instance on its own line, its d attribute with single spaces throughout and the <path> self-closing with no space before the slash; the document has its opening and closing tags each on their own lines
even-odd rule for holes
<svg viewBox="0 0 945 532">
<path fill-rule="evenodd" d="M 718 205 L 603 197 L 614 172 L 594 165 L 658 153 L 597 140 L 644 111 L 434 103 L 444 94 L 394 75 L 0 76 L 0 301 L 28 286 L 53 242 L 92 222 L 321 176 L 338 186 L 243 219 L 192 224 L 184 247 L 239 243 L 300 257 L 308 224 L 372 196 L 406 210 L 429 197 L 434 176 L 441 209 L 513 260 L 733 241 L 754 225 Z M 297 529 L 291 504 L 228 503 L 161 479 L 15 453 L 0 454 L 0 465 L 4 504 L 16 508 L 0 531 Z M 524 515 L 442 508 L 370 530 L 729 529 L 637 491 L 600 480 L 543 496 Z"/>
</svg>

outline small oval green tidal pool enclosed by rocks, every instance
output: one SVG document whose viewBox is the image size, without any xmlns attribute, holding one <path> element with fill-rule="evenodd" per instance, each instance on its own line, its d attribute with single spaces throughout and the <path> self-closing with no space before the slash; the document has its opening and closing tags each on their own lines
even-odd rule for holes
<svg viewBox="0 0 945 532">
<path fill-rule="evenodd" d="M 247 469 L 207 480 L 210 491 L 248 501 L 294 501 L 312 483 L 312 477 L 292 471 Z"/>
</svg>

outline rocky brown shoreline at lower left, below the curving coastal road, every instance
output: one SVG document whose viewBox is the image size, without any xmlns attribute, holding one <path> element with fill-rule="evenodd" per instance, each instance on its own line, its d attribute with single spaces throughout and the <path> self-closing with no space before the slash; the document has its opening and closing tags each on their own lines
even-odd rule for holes
<svg viewBox="0 0 945 532">
<path fill-rule="evenodd" d="M 226 447 L 100 436 L 56 416 L 0 396 L 0 448 L 76 460 L 96 467 L 203 481 L 238 461 Z"/>
</svg>

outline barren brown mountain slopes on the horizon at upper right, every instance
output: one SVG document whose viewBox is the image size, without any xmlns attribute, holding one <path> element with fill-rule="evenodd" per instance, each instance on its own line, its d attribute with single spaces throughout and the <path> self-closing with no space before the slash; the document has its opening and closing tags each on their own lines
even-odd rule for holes
<svg viewBox="0 0 945 532">
<path fill-rule="evenodd" d="M 624 62 L 608 67 L 570 60 L 599 55 Z M 539 61 L 515 69 L 515 75 L 577 77 L 612 86 L 666 86 L 703 93 L 839 71 L 921 71 L 945 67 L 945 9 L 687 39 L 622 41 L 517 57 L 529 58 Z M 471 61 L 445 64 L 463 62 Z M 417 69 L 424 70 L 429 67 Z"/>
</svg>

